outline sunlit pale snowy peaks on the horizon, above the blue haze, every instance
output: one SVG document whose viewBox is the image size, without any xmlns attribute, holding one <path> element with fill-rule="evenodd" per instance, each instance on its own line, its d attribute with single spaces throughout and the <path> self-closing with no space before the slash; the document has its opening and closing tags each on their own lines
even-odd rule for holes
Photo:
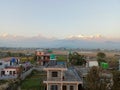
<svg viewBox="0 0 120 90">
<path fill-rule="evenodd" d="M 100 34 L 97 35 L 70 35 L 67 38 L 68 40 L 88 40 L 88 41 L 120 41 L 120 38 L 112 38 L 112 37 L 105 37 Z M 43 36 L 41 34 L 38 34 L 36 36 L 22 36 L 22 35 L 11 35 L 8 33 L 2 33 L 0 34 L 0 40 L 11 40 L 11 41 L 27 41 L 27 40 L 33 40 L 33 41 L 39 41 L 39 40 L 58 40 L 56 37 L 47 37 Z"/>
</svg>

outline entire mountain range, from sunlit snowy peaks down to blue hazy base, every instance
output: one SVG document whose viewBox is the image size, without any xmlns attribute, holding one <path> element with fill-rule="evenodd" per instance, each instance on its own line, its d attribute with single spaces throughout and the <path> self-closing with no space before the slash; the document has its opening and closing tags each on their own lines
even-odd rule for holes
<svg viewBox="0 0 120 90">
<path fill-rule="evenodd" d="M 120 41 L 108 39 L 101 35 L 77 35 L 63 39 L 47 38 L 41 35 L 34 37 L 0 35 L 0 47 L 120 49 Z"/>
</svg>

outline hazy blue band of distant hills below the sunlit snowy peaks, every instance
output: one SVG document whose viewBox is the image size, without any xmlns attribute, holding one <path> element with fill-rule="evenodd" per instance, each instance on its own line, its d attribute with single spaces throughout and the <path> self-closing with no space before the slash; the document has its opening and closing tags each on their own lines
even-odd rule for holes
<svg viewBox="0 0 120 90">
<path fill-rule="evenodd" d="M 27 38 L 27 39 L 0 39 L 0 47 L 41 47 L 41 48 L 104 48 L 120 49 L 120 42 L 99 41 L 85 39 L 44 39 L 44 38 Z"/>
</svg>

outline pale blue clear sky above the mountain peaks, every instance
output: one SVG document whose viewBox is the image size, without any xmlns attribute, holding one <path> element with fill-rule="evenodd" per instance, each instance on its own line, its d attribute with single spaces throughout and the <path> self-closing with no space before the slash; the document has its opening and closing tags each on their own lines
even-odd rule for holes
<svg viewBox="0 0 120 90">
<path fill-rule="evenodd" d="M 120 0 L 0 0 L 0 35 L 120 38 Z"/>
</svg>

